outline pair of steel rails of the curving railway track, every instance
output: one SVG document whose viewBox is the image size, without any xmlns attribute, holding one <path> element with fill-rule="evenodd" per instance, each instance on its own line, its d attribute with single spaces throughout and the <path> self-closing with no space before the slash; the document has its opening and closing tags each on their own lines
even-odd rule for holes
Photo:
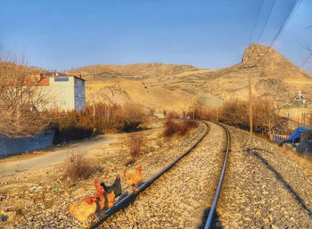
<svg viewBox="0 0 312 229">
<path fill-rule="evenodd" d="M 181 159 L 185 158 L 186 155 L 190 154 L 191 151 L 193 151 L 193 149 L 195 149 L 195 147 L 201 143 L 201 141 L 205 138 L 205 136 L 209 133 L 209 126 L 207 125 L 206 122 L 201 121 L 202 123 L 204 123 L 204 125 L 206 126 L 206 129 L 204 131 L 204 133 L 201 135 L 200 139 L 193 143 L 193 145 L 184 153 L 182 153 L 177 159 L 175 159 L 174 161 L 172 161 L 170 164 L 168 164 L 168 166 L 166 166 L 165 168 L 161 169 L 160 172 L 158 172 L 157 174 L 155 174 L 154 176 L 152 176 L 152 178 L 150 178 L 148 181 L 144 182 L 143 184 L 140 184 L 138 186 L 137 191 L 135 192 L 131 192 L 130 194 L 128 194 L 126 197 L 122 198 L 121 200 L 119 200 L 117 203 L 115 203 L 115 205 L 111 208 L 111 209 L 107 209 L 105 211 L 103 211 L 100 215 L 100 219 L 97 223 L 95 223 L 94 225 L 91 225 L 91 228 L 96 228 L 99 227 L 100 225 L 103 225 L 103 222 L 105 222 L 106 220 L 108 220 L 109 218 L 111 218 L 111 216 L 115 215 L 116 213 L 118 213 L 121 209 L 126 209 L 127 206 L 129 206 L 130 203 L 132 203 L 135 198 L 142 192 L 144 192 L 144 190 L 149 187 L 151 184 L 153 184 L 156 180 L 158 180 L 160 177 L 162 177 L 163 175 L 165 175 L 166 173 L 168 173 L 168 171 L 171 168 L 174 168 L 175 165 L 177 164 L 177 162 L 179 162 Z M 219 125 L 219 124 L 217 124 Z M 221 126 L 223 127 L 223 126 Z M 223 127 L 225 130 L 226 128 Z M 205 229 L 206 228 L 210 228 L 210 226 L 213 223 L 213 218 L 214 218 L 214 211 L 216 209 L 217 206 L 217 202 L 218 202 L 218 194 L 220 192 L 221 189 L 221 185 L 222 185 L 222 180 L 223 177 L 225 175 L 225 171 L 226 171 L 226 162 L 227 162 L 227 156 L 228 156 L 228 150 L 229 150 L 229 134 L 226 131 L 226 155 L 225 155 L 225 159 L 223 162 L 223 167 L 222 167 L 222 171 L 221 171 L 221 176 L 220 179 L 218 181 L 218 187 L 217 187 L 217 192 L 215 194 L 213 203 L 211 205 L 211 209 L 209 210 L 209 217 L 207 219 L 207 222 L 205 223 Z"/>
</svg>

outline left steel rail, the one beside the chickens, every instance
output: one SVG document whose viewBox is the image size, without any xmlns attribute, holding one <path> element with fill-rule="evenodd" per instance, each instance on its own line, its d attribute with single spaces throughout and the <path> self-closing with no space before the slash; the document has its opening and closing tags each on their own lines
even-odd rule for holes
<svg viewBox="0 0 312 229">
<path fill-rule="evenodd" d="M 148 181 L 144 182 L 143 184 L 139 184 L 139 186 L 137 187 L 137 190 L 134 192 L 131 192 L 130 194 L 128 194 L 126 197 L 124 197 L 123 199 L 119 200 L 117 203 L 114 204 L 113 207 L 111 207 L 111 209 L 107 209 L 105 210 L 102 214 L 103 217 L 101 217 L 99 219 L 98 222 L 96 222 L 94 225 L 91 225 L 89 228 L 93 229 L 98 227 L 99 225 L 102 225 L 104 221 L 106 221 L 109 217 L 111 217 L 112 215 L 114 215 L 115 213 L 117 213 L 120 209 L 126 209 L 127 206 L 129 206 L 129 204 L 131 202 L 133 202 L 135 200 L 135 197 L 140 193 L 143 192 L 147 187 L 149 187 L 155 180 L 157 180 L 160 176 L 162 176 L 164 173 L 166 173 L 170 168 L 173 168 L 177 162 L 184 158 L 190 151 L 192 151 L 196 145 L 198 143 L 201 142 L 201 140 L 208 134 L 209 132 L 209 126 L 207 125 L 206 122 L 201 121 L 201 123 L 203 123 L 206 126 L 206 130 L 204 132 L 203 135 L 201 135 L 201 138 L 196 141 L 196 143 L 193 143 L 193 145 L 187 150 L 185 151 L 182 155 L 180 155 L 177 159 L 175 159 L 173 162 L 171 162 L 167 167 L 163 168 L 160 170 L 160 172 L 158 172 L 156 175 L 152 176 L 152 178 L 150 178 Z M 100 213 L 101 214 L 101 213 Z"/>
</svg>

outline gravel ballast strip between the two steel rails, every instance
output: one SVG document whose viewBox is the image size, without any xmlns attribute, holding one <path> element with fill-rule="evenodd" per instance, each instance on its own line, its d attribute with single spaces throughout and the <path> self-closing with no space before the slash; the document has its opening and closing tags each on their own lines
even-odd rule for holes
<svg viewBox="0 0 312 229">
<path fill-rule="evenodd" d="M 218 185 L 224 147 L 225 132 L 210 124 L 189 155 L 100 228 L 198 228 Z"/>
</svg>

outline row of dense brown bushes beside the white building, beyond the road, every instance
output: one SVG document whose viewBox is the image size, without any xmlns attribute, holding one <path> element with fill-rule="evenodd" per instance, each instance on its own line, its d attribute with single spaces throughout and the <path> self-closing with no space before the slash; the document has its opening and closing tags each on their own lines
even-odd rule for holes
<svg viewBox="0 0 312 229">
<path fill-rule="evenodd" d="M 55 111 L 52 127 L 56 130 L 54 143 L 78 140 L 107 132 L 133 132 L 144 122 L 147 114 L 142 107 L 104 104 L 102 102 L 86 106 L 84 111 Z"/>
</svg>

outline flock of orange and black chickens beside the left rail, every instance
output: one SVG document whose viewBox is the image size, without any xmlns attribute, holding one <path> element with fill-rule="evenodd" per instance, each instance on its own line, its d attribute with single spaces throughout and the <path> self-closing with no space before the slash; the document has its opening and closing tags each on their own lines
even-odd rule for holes
<svg viewBox="0 0 312 229">
<path fill-rule="evenodd" d="M 124 176 L 127 185 L 136 189 L 136 185 L 142 182 L 142 167 L 136 168 L 135 171 L 125 171 Z M 99 184 L 97 179 L 94 180 L 94 186 L 94 196 L 85 197 L 69 205 L 70 215 L 81 221 L 84 228 L 90 226 L 87 223 L 89 217 L 102 210 L 111 209 L 114 206 L 115 199 L 122 194 L 119 175 L 111 186 L 106 186 L 104 183 Z M 94 217 L 93 221 L 97 220 Z"/>
</svg>

